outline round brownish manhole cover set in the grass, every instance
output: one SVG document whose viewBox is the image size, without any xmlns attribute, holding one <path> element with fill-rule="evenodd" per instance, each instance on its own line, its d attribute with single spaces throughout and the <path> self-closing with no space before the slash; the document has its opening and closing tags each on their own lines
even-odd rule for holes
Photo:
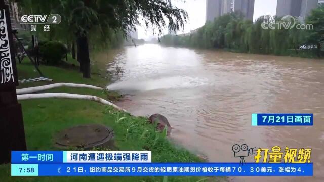
<svg viewBox="0 0 324 182">
<path fill-rule="evenodd" d="M 55 144 L 59 148 L 77 147 L 93 148 L 109 147 L 113 138 L 113 130 L 99 124 L 78 125 L 58 133 Z"/>
</svg>

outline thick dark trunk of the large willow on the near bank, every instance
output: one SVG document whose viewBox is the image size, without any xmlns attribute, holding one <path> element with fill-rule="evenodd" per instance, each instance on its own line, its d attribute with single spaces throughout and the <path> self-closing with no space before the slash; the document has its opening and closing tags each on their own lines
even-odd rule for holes
<svg viewBox="0 0 324 182">
<path fill-rule="evenodd" d="M 80 65 L 82 67 L 83 77 L 90 78 L 90 56 L 87 36 L 78 36 L 78 47 L 80 55 Z"/>
</svg>

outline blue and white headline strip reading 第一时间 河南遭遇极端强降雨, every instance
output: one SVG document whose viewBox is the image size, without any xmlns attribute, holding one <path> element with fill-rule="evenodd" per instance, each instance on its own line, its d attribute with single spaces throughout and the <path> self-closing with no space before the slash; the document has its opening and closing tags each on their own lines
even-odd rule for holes
<svg viewBox="0 0 324 182">
<path fill-rule="evenodd" d="M 11 163 L 150 163 L 151 151 L 12 151 Z"/>
</svg>

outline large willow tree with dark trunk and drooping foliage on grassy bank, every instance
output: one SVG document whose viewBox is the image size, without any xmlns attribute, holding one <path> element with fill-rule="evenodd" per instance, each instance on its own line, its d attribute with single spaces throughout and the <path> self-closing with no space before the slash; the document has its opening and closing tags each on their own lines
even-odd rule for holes
<svg viewBox="0 0 324 182">
<path fill-rule="evenodd" d="M 187 12 L 175 7 L 171 0 L 22 0 L 21 4 L 32 14 L 61 15 L 61 27 L 51 30 L 49 39 L 76 41 L 80 70 L 85 78 L 90 78 L 90 41 L 113 42 L 120 34 L 111 34 L 112 31 L 126 36 L 141 25 L 140 18 L 147 29 L 161 36 L 166 27 L 174 32 L 183 30 L 188 18 Z"/>
</svg>

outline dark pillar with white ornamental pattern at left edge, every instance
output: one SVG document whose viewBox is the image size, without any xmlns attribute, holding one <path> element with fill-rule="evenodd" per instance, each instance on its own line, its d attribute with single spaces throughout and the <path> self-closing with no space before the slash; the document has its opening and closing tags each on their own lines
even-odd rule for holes
<svg viewBox="0 0 324 182">
<path fill-rule="evenodd" d="M 11 151 L 26 149 L 9 5 L 0 0 L 0 164 L 11 162 Z"/>
</svg>

